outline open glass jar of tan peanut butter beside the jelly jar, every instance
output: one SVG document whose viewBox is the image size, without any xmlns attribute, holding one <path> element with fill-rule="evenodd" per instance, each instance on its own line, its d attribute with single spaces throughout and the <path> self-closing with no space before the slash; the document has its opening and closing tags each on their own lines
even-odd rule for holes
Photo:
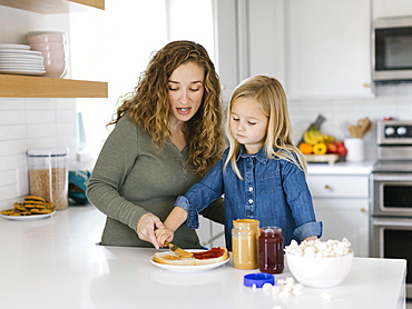
<svg viewBox="0 0 412 309">
<path fill-rule="evenodd" d="M 237 219 L 232 229 L 232 262 L 237 269 L 256 269 L 257 237 L 259 221 L 255 219 Z"/>
</svg>

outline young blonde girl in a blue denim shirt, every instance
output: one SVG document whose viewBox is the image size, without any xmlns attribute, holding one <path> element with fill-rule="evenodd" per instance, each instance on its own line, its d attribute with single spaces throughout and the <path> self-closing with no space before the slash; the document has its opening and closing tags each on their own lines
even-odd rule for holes
<svg viewBox="0 0 412 309">
<path fill-rule="evenodd" d="M 186 221 L 198 228 L 198 212 L 225 195 L 225 239 L 232 250 L 233 220 L 257 219 L 259 226 L 282 228 L 284 245 L 322 235 L 306 183 L 306 161 L 292 142 L 286 96 L 274 78 L 252 77 L 232 94 L 227 114 L 229 148 L 223 159 L 176 199 L 175 208 L 156 230 L 159 243 L 171 241 Z"/>
</svg>

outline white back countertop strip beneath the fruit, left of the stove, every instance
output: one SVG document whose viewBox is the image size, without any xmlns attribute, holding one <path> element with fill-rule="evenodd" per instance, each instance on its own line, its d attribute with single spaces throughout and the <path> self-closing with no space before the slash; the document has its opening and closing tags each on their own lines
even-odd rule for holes
<svg viewBox="0 0 412 309">
<path fill-rule="evenodd" d="M 307 175 L 370 175 L 373 163 L 372 161 L 307 163 Z"/>
</svg>

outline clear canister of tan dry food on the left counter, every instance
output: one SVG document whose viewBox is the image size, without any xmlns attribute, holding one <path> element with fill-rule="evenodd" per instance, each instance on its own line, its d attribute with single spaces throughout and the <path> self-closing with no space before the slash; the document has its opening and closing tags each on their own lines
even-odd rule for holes
<svg viewBox="0 0 412 309">
<path fill-rule="evenodd" d="M 29 149 L 30 196 L 52 202 L 56 209 L 69 206 L 68 149 Z"/>
</svg>

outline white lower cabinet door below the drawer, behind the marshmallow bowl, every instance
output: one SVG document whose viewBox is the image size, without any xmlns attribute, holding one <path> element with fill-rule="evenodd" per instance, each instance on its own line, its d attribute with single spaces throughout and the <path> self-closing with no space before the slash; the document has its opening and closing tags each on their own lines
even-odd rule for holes
<svg viewBox="0 0 412 309">
<path fill-rule="evenodd" d="M 355 257 L 369 257 L 366 199 L 314 199 L 313 202 L 316 219 L 323 221 L 323 241 L 346 238 Z"/>
</svg>

